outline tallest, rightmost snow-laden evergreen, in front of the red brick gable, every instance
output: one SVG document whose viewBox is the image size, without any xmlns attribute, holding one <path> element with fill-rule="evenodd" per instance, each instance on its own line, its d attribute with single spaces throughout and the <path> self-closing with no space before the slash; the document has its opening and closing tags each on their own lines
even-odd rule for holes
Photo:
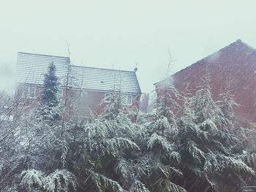
<svg viewBox="0 0 256 192">
<path fill-rule="evenodd" d="M 189 101 L 178 119 L 173 145 L 178 147 L 187 191 L 238 191 L 246 177 L 253 177 L 254 155 L 237 151 L 241 138 L 211 97 L 210 77 Z"/>
</svg>

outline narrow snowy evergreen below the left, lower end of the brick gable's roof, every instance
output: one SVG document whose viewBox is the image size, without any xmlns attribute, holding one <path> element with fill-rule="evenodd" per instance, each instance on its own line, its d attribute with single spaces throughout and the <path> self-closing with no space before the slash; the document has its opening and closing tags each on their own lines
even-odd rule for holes
<svg viewBox="0 0 256 192">
<path fill-rule="evenodd" d="M 146 143 L 141 144 L 144 149 L 141 158 L 147 174 L 143 174 L 141 180 L 148 191 L 184 192 L 183 186 L 176 182 L 183 173 L 177 168 L 181 155 L 173 145 L 178 128 L 176 114 L 181 110 L 178 104 L 181 95 L 171 84 L 170 78 L 157 87 L 157 93 L 159 96 L 153 112 L 138 117 L 138 122 L 145 128 L 143 131 L 146 137 Z"/>
</svg>

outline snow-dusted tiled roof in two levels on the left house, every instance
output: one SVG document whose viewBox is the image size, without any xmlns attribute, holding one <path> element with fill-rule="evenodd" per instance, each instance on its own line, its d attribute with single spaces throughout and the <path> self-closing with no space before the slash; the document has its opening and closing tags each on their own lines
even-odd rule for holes
<svg viewBox="0 0 256 192">
<path fill-rule="evenodd" d="M 21 52 L 18 53 L 16 82 L 43 85 L 44 74 L 47 73 L 50 62 L 56 65 L 56 76 L 64 85 L 69 58 Z M 70 85 L 73 88 L 83 88 L 87 91 L 141 93 L 136 73 L 133 71 L 71 65 L 70 72 Z"/>
</svg>

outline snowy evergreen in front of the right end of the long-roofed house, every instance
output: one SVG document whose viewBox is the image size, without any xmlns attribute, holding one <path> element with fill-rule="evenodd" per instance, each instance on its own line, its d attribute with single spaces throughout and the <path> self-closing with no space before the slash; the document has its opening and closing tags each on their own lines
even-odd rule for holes
<svg viewBox="0 0 256 192">
<path fill-rule="evenodd" d="M 141 129 L 127 118 L 120 94 L 111 99 L 105 114 L 84 125 L 71 145 L 69 167 L 86 181 L 78 191 L 146 191 L 138 176 L 145 169 L 138 164 Z"/>
</svg>

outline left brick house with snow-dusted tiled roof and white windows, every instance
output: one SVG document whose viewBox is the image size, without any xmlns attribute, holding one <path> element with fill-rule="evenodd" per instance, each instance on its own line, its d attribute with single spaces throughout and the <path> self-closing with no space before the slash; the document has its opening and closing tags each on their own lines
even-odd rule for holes
<svg viewBox="0 0 256 192">
<path fill-rule="evenodd" d="M 136 70 L 74 66 L 68 57 L 19 52 L 16 96 L 21 97 L 22 104 L 33 106 L 37 103 L 43 90 L 44 74 L 48 72 L 51 62 L 56 66 L 56 76 L 61 84 L 59 97 L 64 100 L 67 96 L 69 107 L 69 100 L 79 94 L 83 97 L 80 110 L 85 115 L 89 110 L 99 114 L 102 106 L 111 102 L 111 93 L 121 93 L 127 106 L 139 107 L 141 91 Z"/>
</svg>

